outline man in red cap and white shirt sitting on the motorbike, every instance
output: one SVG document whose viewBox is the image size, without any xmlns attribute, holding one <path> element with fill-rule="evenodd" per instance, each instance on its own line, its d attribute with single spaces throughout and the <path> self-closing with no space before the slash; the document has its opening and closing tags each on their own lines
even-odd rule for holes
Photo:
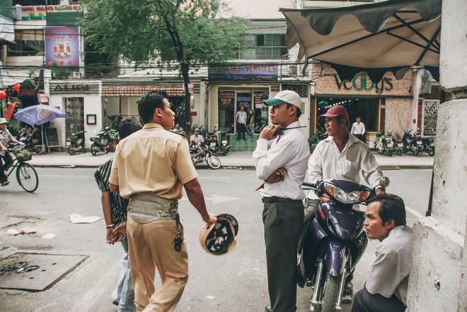
<svg viewBox="0 0 467 312">
<path fill-rule="evenodd" d="M 309 183 L 323 179 L 340 179 L 360 183 L 360 172 L 371 188 L 376 188 L 376 194 L 384 194 L 386 190 L 379 186 L 383 172 L 379 169 L 373 154 L 367 144 L 363 143 L 349 131 L 349 114 L 342 105 L 328 109 L 328 112 L 318 117 L 323 119 L 328 138 L 321 140 L 309 159 Z M 309 203 L 305 211 L 304 231 L 315 217 L 318 201 L 332 203 L 327 196 L 316 196 L 314 192 L 308 195 Z M 300 246 L 299 246 L 300 248 Z M 300 253 L 301 250 L 298 251 Z M 350 303 L 352 295 L 352 273 L 347 277 L 343 304 Z"/>
</svg>

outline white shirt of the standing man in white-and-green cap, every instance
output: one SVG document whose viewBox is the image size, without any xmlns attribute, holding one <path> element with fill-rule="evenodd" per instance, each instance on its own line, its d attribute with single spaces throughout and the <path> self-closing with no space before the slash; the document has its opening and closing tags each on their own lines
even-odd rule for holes
<svg viewBox="0 0 467 312">
<path fill-rule="evenodd" d="M 299 121 L 295 121 L 287 128 L 299 126 Z M 260 180 L 267 179 L 279 168 L 287 169 L 283 181 L 265 183 L 264 188 L 259 190 L 263 197 L 276 196 L 292 200 L 305 198 L 301 184 L 305 179 L 310 146 L 301 128 L 289 130 L 287 128 L 284 129 L 284 134 L 280 136 L 279 141 L 275 138 L 270 150 L 267 150 L 267 140 L 260 138 L 253 152 L 256 175 Z"/>
</svg>

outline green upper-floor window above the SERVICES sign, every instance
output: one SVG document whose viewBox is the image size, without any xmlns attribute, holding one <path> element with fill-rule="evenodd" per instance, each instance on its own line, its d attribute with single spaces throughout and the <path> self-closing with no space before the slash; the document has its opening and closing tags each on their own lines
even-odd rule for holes
<svg viewBox="0 0 467 312">
<path fill-rule="evenodd" d="M 238 59 L 280 59 L 287 53 L 284 34 L 250 34 L 238 49 Z"/>
</svg>

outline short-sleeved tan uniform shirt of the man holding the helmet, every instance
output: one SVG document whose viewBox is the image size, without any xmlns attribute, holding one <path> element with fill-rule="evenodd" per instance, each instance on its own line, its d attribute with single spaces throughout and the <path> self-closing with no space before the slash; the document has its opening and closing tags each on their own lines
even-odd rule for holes
<svg viewBox="0 0 467 312">
<path fill-rule="evenodd" d="M 120 188 L 120 196 L 151 192 L 161 198 L 181 198 L 183 184 L 197 177 L 188 140 L 158 124 L 118 143 L 109 182 Z"/>
</svg>

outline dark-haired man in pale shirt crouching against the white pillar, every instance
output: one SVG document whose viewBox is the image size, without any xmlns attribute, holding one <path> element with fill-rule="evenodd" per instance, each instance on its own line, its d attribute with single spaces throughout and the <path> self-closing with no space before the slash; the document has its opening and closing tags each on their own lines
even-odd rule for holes
<svg viewBox="0 0 467 312">
<path fill-rule="evenodd" d="M 412 256 L 412 229 L 405 225 L 404 202 L 392 194 L 375 196 L 365 216 L 368 238 L 380 243 L 367 283 L 355 294 L 352 312 L 403 312 Z"/>
</svg>

